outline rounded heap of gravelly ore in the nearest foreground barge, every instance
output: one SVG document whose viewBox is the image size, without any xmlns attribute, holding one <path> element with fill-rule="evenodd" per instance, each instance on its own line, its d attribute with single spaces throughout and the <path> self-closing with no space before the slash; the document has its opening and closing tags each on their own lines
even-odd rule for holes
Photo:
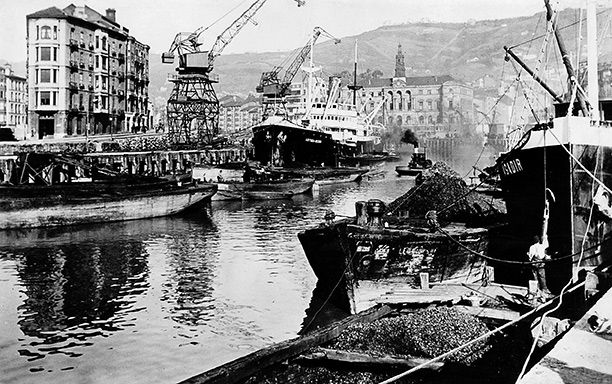
<svg viewBox="0 0 612 384">
<path fill-rule="evenodd" d="M 435 307 L 347 328 L 330 348 L 372 355 L 436 357 L 488 332 L 478 318 L 453 308 Z M 446 361 L 469 365 L 487 351 L 475 343 Z"/>
</svg>

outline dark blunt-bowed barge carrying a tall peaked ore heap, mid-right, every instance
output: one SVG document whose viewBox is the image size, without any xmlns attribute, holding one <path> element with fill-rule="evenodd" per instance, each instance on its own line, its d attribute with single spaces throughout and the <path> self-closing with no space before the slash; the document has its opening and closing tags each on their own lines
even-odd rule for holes
<svg viewBox="0 0 612 384">
<path fill-rule="evenodd" d="M 422 274 L 432 282 L 477 281 L 486 267 L 478 255 L 488 251 L 490 229 L 503 212 L 490 197 L 466 191 L 458 174 L 436 163 L 388 205 L 358 201 L 355 217 L 334 221 L 329 213 L 325 224 L 298 233 L 298 239 L 318 279 L 344 277 L 349 295 L 359 294 L 365 281 L 418 285 Z M 449 206 L 462 196 L 461 204 Z"/>
</svg>

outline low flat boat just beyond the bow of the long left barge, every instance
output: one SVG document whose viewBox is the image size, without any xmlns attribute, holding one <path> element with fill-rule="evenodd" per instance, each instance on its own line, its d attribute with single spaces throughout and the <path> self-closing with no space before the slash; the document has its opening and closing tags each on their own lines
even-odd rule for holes
<svg viewBox="0 0 612 384">
<path fill-rule="evenodd" d="M 213 200 L 279 200 L 310 191 L 314 179 L 281 179 L 248 182 L 217 182 Z"/>
</svg>

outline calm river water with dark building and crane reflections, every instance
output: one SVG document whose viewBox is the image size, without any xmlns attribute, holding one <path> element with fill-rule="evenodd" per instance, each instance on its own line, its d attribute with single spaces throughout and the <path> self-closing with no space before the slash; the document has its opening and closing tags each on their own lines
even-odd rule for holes
<svg viewBox="0 0 612 384">
<path fill-rule="evenodd" d="M 0 382 L 176 382 L 295 337 L 316 284 L 296 234 L 403 194 L 395 165 L 210 217 L 0 231 Z"/>
</svg>

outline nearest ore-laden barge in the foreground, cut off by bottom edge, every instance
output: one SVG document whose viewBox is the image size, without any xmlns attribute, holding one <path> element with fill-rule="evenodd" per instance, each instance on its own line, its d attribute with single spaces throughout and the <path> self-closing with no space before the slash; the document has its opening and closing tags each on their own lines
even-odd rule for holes
<svg viewBox="0 0 612 384">
<path fill-rule="evenodd" d="M 456 377 L 466 382 L 503 382 L 521 369 L 523 360 L 508 359 L 508 351 L 528 348 L 531 333 L 525 324 L 549 309 L 525 304 L 528 295 L 524 287 L 496 283 L 398 289 L 357 314 L 303 329 L 296 338 L 181 384 L 380 383 L 419 369 L 418 381 L 426 375 L 427 382 L 455 382 Z M 319 313 L 317 308 L 309 309 L 315 316 Z M 306 328 L 313 318 L 304 319 Z M 504 337 L 482 340 L 502 330 Z M 553 340 L 560 332 L 551 332 Z M 481 340 L 472 342 L 477 338 Z M 459 353 L 449 353 L 459 346 Z"/>
</svg>

